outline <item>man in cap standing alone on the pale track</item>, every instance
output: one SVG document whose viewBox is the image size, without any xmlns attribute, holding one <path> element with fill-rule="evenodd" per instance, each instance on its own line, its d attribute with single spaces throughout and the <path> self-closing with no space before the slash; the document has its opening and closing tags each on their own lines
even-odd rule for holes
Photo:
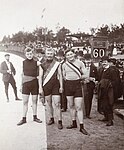
<svg viewBox="0 0 124 150">
<path fill-rule="evenodd" d="M 20 100 L 17 96 L 17 87 L 16 87 L 16 82 L 14 79 L 16 70 L 15 70 L 13 64 L 10 62 L 9 54 L 5 54 L 5 61 L 3 61 L 0 65 L 0 73 L 3 74 L 3 82 L 5 85 L 5 93 L 6 93 L 6 97 L 7 97 L 7 102 L 9 102 L 9 95 L 8 95 L 9 83 L 11 84 L 11 86 L 14 90 L 15 100 Z"/>
</svg>

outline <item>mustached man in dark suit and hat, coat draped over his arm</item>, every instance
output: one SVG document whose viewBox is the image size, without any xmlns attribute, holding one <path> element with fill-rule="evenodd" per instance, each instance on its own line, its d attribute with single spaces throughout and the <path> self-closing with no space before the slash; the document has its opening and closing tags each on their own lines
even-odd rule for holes
<svg viewBox="0 0 124 150">
<path fill-rule="evenodd" d="M 106 126 L 113 126 L 114 88 L 117 86 L 118 73 L 110 66 L 108 56 L 102 58 L 102 66 L 99 72 L 98 110 L 103 113 L 104 118 L 100 121 L 107 122 Z"/>
</svg>

